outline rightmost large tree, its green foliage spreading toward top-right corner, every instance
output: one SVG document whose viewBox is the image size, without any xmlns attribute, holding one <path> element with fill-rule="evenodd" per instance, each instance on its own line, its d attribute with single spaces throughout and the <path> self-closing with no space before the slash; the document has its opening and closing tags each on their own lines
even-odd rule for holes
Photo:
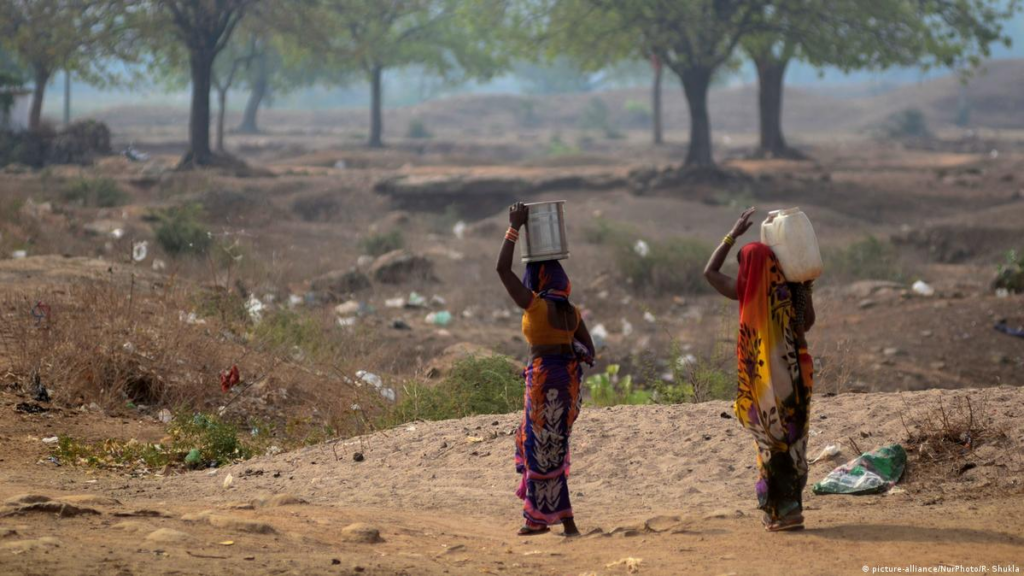
<svg viewBox="0 0 1024 576">
<path fill-rule="evenodd" d="M 794 59 L 843 71 L 891 66 L 963 68 L 987 56 L 1018 0 L 776 0 L 742 46 L 758 74 L 758 155 L 799 158 L 782 132 L 785 71 Z"/>
</svg>

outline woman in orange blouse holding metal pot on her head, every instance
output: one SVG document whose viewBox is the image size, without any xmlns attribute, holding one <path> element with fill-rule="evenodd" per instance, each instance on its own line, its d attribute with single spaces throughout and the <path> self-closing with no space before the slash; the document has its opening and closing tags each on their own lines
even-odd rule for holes
<svg viewBox="0 0 1024 576">
<path fill-rule="evenodd" d="M 515 464 L 521 475 L 516 495 L 525 519 L 519 534 L 543 534 L 561 524 L 566 536 L 578 536 L 569 502 L 569 436 L 582 406 L 583 364 L 593 363 L 594 343 L 569 301 L 572 287 L 557 260 L 526 264 L 521 281 L 512 272 L 527 215 L 521 203 L 509 208 L 509 231 L 498 255 L 498 276 L 523 310 L 522 333 L 529 343 L 523 419 L 516 434 Z"/>
</svg>

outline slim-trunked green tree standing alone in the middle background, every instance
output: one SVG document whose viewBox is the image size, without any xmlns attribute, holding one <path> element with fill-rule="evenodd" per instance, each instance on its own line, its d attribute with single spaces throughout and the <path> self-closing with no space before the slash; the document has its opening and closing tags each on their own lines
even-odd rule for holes
<svg viewBox="0 0 1024 576">
<path fill-rule="evenodd" d="M 486 78 L 501 70 L 490 48 L 490 0 L 318 0 L 302 44 L 330 60 L 336 77 L 353 69 L 370 85 L 371 148 L 384 145 L 384 73 L 419 66 L 440 76 Z"/>
</svg>

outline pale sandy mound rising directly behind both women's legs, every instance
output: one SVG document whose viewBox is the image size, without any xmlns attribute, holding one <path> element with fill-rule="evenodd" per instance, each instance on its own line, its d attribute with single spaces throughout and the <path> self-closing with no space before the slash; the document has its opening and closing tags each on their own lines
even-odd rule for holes
<svg viewBox="0 0 1024 576">
<path fill-rule="evenodd" d="M 906 496 L 928 499 L 1021 494 L 1016 480 L 1024 470 L 1019 457 L 1024 425 L 1024 389 L 841 395 L 817 398 L 811 420 L 809 453 L 841 444 L 842 456 L 811 466 L 811 481 L 823 478 L 839 461 L 854 456 L 848 439 L 863 450 L 903 441 L 919 423 L 919 410 L 931 410 L 965 395 L 979 418 L 1005 431 L 998 442 L 966 456 L 975 464 L 940 483 L 916 482 L 911 468 Z M 982 412 L 983 411 L 983 412 Z M 518 414 L 476 416 L 443 422 L 415 422 L 369 437 L 338 441 L 274 457 L 251 460 L 218 475 L 241 477 L 239 494 L 285 492 L 311 503 L 347 506 L 444 509 L 445 513 L 508 518 L 516 516 L 512 465 L 513 430 Z M 984 449 L 984 452 L 982 451 Z M 352 455 L 360 452 L 361 461 Z M 699 405 L 585 408 L 572 435 L 571 489 L 577 515 L 594 522 L 615 522 L 637 515 L 686 508 L 712 511 L 723 506 L 754 507 L 755 450 L 726 402 Z M 313 463 L 315 462 L 315 463 Z M 214 480 L 197 485 L 193 476 L 165 483 L 164 497 L 209 497 L 220 490 Z M 810 505 L 822 498 L 808 494 Z M 615 502 L 609 507 L 609 502 Z"/>
</svg>

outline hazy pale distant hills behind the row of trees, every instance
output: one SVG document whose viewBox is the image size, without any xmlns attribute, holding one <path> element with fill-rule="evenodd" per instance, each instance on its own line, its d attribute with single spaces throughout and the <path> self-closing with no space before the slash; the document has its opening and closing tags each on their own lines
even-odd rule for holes
<svg viewBox="0 0 1024 576">
<path fill-rule="evenodd" d="M 863 93 L 855 86 L 850 90 Z M 649 92 L 641 88 L 549 96 L 462 94 L 388 110 L 385 125 L 389 135 L 397 136 L 404 134 L 412 120 L 423 121 L 432 131 L 481 136 L 522 129 L 571 130 L 583 125 L 588 109 L 603 108 L 617 129 L 642 130 L 646 121 L 638 116 L 637 109 L 646 107 L 649 97 Z M 790 87 L 784 94 L 783 125 L 791 134 L 856 133 L 890 114 L 916 108 L 931 126 L 951 126 L 959 117 L 962 98 L 970 111 L 969 126 L 1024 128 L 1024 59 L 991 61 L 967 84 L 948 75 L 872 96 L 842 97 L 835 86 L 829 86 L 827 93 L 806 86 Z M 710 106 L 717 135 L 757 131 L 756 85 L 715 89 Z M 664 86 L 664 111 L 668 129 L 688 129 L 682 88 L 671 76 Z M 115 131 L 174 125 L 183 129 L 187 122 L 186 111 L 177 108 L 119 107 L 92 116 L 110 123 Z M 368 116 L 368 111 L 361 109 L 268 110 L 262 113 L 262 122 L 271 130 L 366 130 Z"/>
</svg>

